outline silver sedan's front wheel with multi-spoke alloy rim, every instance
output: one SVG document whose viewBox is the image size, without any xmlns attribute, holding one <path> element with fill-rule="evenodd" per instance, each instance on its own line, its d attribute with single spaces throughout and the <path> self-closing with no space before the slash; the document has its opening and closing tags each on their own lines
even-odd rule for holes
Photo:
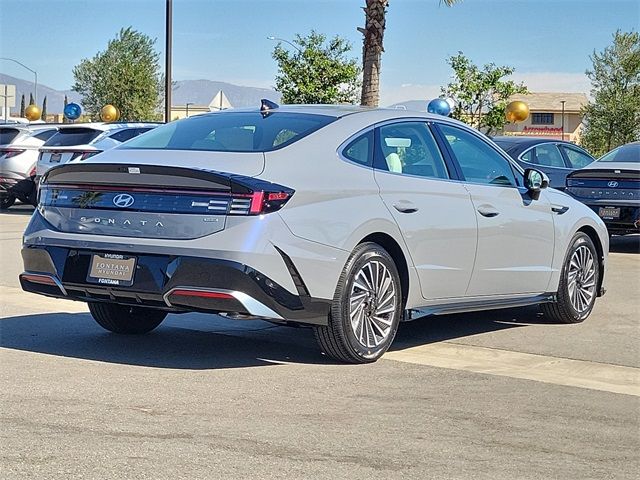
<svg viewBox="0 0 640 480">
<path fill-rule="evenodd" d="M 578 232 L 564 259 L 556 300 L 540 305 L 545 317 L 558 323 L 583 322 L 598 295 L 600 259 L 591 238 Z"/>
</svg>

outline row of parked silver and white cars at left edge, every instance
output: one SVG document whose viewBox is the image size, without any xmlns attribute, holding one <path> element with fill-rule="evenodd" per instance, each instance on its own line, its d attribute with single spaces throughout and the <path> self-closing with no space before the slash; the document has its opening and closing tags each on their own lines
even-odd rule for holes
<svg viewBox="0 0 640 480">
<path fill-rule="evenodd" d="M 38 179 L 50 168 L 82 161 L 156 127 L 154 123 L 0 125 L 0 209 L 35 204 Z"/>
</svg>

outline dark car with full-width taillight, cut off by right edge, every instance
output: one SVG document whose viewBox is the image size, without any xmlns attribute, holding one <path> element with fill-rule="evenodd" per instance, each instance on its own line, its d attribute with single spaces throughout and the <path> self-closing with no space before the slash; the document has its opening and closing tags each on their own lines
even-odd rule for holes
<svg viewBox="0 0 640 480">
<path fill-rule="evenodd" d="M 613 149 L 571 173 L 566 191 L 591 207 L 609 234 L 640 232 L 640 142 Z"/>
</svg>

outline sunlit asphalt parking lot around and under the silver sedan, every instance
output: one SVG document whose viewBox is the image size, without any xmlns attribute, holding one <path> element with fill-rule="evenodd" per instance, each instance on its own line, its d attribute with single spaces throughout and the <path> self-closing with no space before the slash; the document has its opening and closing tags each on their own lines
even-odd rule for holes
<svg viewBox="0 0 640 480">
<path fill-rule="evenodd" d="M 583 324 L 423 318 L 348 366 L 259 321 L 110 335 L 20 290 L 29 213 L 0 214 L 2 478 L 638 478 L 639 236 L 613 239 Z"/>
</svg>

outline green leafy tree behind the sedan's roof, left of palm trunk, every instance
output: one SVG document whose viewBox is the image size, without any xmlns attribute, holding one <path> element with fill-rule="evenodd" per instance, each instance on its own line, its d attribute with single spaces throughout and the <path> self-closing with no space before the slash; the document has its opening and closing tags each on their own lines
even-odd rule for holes
<svg viewBox="0 0 640 480">
<path fill-rule="evenodd" d="M 311 31 L 296 35 L 295 51 L 276 45 L 272 56 L 278 63 L 276 90 L 284 103 L 355 103 L 360 68 L 348 58 L 351 44 L 339 36 L 327 42 L 323 34 Z"/>
</svg>

